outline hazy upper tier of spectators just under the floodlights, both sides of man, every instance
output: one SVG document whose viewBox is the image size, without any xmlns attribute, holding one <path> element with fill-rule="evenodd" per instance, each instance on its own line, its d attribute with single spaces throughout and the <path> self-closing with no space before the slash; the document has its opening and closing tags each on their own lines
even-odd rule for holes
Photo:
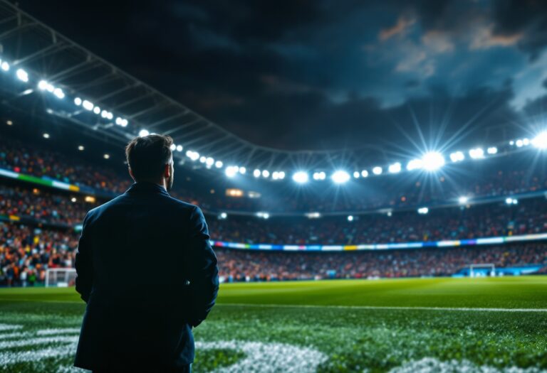
<svg viewBox="0 0 547 373">
<path fill-rule="evenodd" d="M 288 190 L 294 185 L 266 183 L 269 185 L 263 185 L 259 190 L 260 198 L 227 197 L 224 190 L 211 193 L 215 186 L 212 180 L 209 180 L 209 185 L 186 188 L 180 180 L 182 178 L 177 177 L 179 173 L 176 173 L 178 181 L 172 194 L 182 200 L 195 202 L 204 210 L 330 212 L 434 205 L 454 202 L 462 195 L 483 198 L 547 190 L 547 172 L 542 164 L 531 167 L 529 162 L 525 163 L 526 158 L 519 158 L 522 155 L 511 157 L 511 162 L 492 159 L 469 163 L 465 168 L 456 165 L 453 166 L 454 176 L 434 176 L 433 180 L 422 177 L 420 173 L 355 180 L 353 185 L 348 185 L 346 192 L 338 188 L 325 188 L 321 182 L 317 182 L 295 194 Z M 104 165 L 98 167 L 59 151 L 36 144 L 28 146 L 7 137 L 0 138 L 0 168 L 86 185 L 110 195 L 123 193 L 130 186 L 130 178 L 123 168 L 115 170 Z"/>
</svg>

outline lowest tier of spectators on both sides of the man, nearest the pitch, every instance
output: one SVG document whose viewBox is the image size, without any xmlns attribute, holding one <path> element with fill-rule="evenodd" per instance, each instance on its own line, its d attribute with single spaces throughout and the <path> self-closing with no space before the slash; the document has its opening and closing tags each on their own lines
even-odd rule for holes
<svg viewBox="0 0 547 373">
<path fill-rule="evenodd" d="M 0 286 L 33 286 L 43 283 L 46 269 L 72 268 L 77 246 L 71 230 L 0 222 Z M 473 263 L 547 266 L 543 243 L 337 253 L 214 250 L 224 281 L 450 276 Z"/>
</svg>

